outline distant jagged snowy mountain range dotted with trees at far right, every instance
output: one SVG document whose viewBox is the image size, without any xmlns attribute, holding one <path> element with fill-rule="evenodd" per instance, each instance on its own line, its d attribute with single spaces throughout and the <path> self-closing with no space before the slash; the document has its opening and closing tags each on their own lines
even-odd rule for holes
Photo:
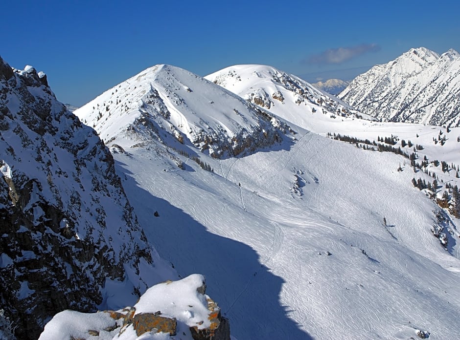
<svg viewBox="0 0 460 340">
<path fill-rule="evenodd" d="M 460 55 L 412 48 L 356 77 L 338 97 L 383 121 L 460 126 Z"/>
</svg>

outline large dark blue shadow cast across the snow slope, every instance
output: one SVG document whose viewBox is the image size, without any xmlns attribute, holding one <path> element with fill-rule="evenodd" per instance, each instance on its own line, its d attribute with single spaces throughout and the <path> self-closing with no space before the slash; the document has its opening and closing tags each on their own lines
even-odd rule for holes
<svg viewBox="0 0 460 340">
<path fill-rule="evenodd" d="M 230 319 L 232 336 L 238 340 L 313 339 L 288 317 L 288 307 L 279 301 L 285 281 L 262 265 L 253 248 L 208 232 L 183 210 L 141 188 L 122 163 L 116 167 L 121 177 L 127 174 L 123 187 L 149 241 L 181 276 L 206 276 L 207 294 Z"/>
</svg>

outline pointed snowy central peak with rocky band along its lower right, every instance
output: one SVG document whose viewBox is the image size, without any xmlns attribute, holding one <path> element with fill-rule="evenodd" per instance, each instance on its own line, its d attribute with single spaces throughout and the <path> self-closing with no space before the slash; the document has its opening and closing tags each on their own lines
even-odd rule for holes
<svg viewBox="0 0 460 340">
<path fill-rule="evenodd" d="M 144 70 L 75 114 L 96 128 L 108 144 L 120 134 L 130 136 L 129 147 L 150 143 L 153 136 L 167 144 L 167 136 L 174 136 L 214 158 L 246 154 L 278 143 L 289 131 L 270 113 L 170 65 Z"/>
</svg>

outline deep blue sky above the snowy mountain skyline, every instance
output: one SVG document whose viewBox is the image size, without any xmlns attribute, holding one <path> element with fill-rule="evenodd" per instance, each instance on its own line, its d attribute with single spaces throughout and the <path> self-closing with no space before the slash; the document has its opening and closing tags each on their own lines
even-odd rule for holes
<svg viewBox="0 0 460 340">
<path fill-rule="evenodd" d="M 458 0 L 4 0 L 1 7 L 0 56 L 44 71 L 57 98 L 76 106 L 154 64 L 201 76 L 268 64 L 313 82 L 354 77 L 412 47 L 460 51 Z"/>
</svg>

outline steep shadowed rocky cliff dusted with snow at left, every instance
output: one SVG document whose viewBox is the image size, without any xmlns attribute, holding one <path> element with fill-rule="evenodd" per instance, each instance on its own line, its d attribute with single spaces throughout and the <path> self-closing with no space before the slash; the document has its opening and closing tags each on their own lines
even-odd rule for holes
<svg viewBox="0 0 460 340">
<path fill-rule="evenodd" d="M 155 277 L 157 255 L 104 143 L 42 72 L 1 59 L 0 149 L 0 301 L 18 339 L 36 339 L 66 308 L 94 310 L 106 280 L 135 295 L 160 280 L 140 277 L 140 263 Z"/>
</svg>

